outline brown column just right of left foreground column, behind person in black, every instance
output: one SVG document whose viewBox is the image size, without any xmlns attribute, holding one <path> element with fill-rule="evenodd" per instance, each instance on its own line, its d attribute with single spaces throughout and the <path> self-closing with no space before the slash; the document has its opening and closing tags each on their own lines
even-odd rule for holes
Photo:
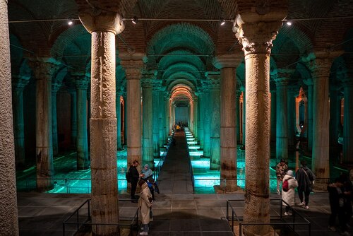
<svg viewBox="0 0 353 236">
<path fill-rule="evenodd" d="M 143 54 L 119 55 L 121 66 L 126 71 L 126 122 L 127 122 L 127 166 L 141 158 L 141 94 L 140 78 Z"/>
</svg>

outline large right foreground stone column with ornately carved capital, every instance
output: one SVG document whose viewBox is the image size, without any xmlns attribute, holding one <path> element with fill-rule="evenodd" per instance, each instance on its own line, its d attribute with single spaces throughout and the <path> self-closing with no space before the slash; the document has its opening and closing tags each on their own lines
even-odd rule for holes
<svg viewBox="0 0 353 236">
<path fill-rule="evenodd" d="M 266 16 L 245 11 L 237 18 L 246 67 L 244 223 L 270 223 L 270 51 L 287 8 L 274 11 Z M 273 235 L 271 231 L 269 225 L 253 225 L 244 235 Z"/>
</svg>

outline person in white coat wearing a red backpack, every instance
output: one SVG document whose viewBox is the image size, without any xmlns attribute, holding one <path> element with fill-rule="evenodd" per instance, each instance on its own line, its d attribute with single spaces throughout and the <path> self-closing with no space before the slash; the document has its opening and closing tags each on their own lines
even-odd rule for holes
<svg viewBox="0 0 353 236">
<path fill-rule="evenodd" d="M 293 170 L 288 170 L 282 182 L 282 205 L 285 206 L 285 216 L 291 216 L 289 206 L 294 206 L 295 188 L 298 187 Z"/>
</svg>

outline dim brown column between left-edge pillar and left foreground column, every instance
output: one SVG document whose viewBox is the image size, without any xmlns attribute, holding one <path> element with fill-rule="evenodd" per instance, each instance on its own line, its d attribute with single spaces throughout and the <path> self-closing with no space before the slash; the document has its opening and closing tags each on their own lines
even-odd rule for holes
<svg viewBox="0 0 353 236">
<path fill-rule="evenodd" d="M 53 146 L 52 146 L 52 76 L 57 66 L 52 59 L 30 61 L 36 79 L 36 153 L 37 153 L 37 190 L 47 191 L 54 188 Z"/>
</svg>

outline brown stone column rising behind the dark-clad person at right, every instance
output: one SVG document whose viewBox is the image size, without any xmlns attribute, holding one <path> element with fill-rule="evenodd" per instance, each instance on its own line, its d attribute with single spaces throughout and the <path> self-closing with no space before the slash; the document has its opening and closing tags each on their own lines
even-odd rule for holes
<svg viewBox="0 0 353 236">
<path fill-rule="evenodd" d="M 330 178 L 330 110 L 328 100 L 328 79 L 330 67 L 341 52 L 317 51 L 303 59 L 313 75 L 313 152 L 311 169 L 316 175 L 315 189 L 326 189 L 326 180 Z M 316 59 L 312 59 L 315 58 Z"/>
</svg>

